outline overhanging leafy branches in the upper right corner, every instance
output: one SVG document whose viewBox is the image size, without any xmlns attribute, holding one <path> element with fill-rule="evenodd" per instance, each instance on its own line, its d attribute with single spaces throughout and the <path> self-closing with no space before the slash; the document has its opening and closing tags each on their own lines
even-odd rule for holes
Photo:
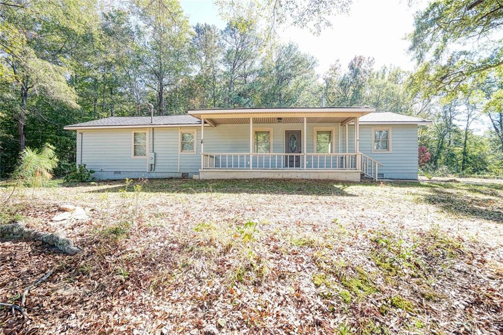
<svg viewBox="0 0 503 335">
<path fill-rule="evenodd" d="M 414 18 L 409 51 L 417 61 L 413 88 L 425 97 L 452 99 L 503 66 L 499 0 L 435 0 Z M 472 48 L 476 42 L 477 47 Z"/>
</svg>

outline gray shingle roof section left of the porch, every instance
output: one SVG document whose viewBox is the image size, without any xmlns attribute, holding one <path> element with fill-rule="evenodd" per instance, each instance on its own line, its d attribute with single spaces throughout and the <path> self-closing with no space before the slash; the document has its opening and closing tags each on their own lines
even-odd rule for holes
<svg viewBox="0 0 503 335">
<path fill-rule="evenodd" d="M 150 126 L 150 125 L 178 125 L 178 124 L 201 124 L 201 120 L 191 115 L 168 115 L 154 116 L 154 122 L 150 123 L 149 116 L 119 116 L 105 119 L 76 123 L 66 127 L 97 127 L 97 126 Z"/>
</svg>

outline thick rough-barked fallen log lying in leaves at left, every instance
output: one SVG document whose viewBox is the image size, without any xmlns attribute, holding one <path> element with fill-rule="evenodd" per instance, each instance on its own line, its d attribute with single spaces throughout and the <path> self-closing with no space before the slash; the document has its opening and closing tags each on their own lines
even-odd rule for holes
<svg viewBox="0 0 503 335">
<path fill-rule="evenodd" d="M 0 225 L 0 237 L 23 237 L 39 240 L 44 243 L 54 245 L 58 248 L 58 250 L 67 255 L 75 255 L 81 252 L 78 247 L 73 245 L 73 241 L 70 238 L 65 237 L 63 233 L 48 233 L 40 230 L 29 229 L 21 222 Z"/>
</svg>

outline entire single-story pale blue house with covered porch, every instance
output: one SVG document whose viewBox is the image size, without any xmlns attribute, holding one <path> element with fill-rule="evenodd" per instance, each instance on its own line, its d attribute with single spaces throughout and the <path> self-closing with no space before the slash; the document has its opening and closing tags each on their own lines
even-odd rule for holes
<svg viewBox="0 0 503 335">
<path fill-rule="evenodd" d="M 76 163 L 98 179 L 417 179 L 428 120 L 369 107 L 190 110 L 109 117 L 76 130 Z"/>
</svg>

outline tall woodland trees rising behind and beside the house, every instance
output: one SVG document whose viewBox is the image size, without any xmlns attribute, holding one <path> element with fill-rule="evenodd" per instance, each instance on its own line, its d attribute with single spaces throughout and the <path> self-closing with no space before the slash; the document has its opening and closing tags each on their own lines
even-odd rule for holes
<svg viewBox="0 0 503 335">
<path fill-rule="evenodd" d="M 15 169 L 22 148 L 19 126 L 29 147 L 46 142 L 56 147 L 60 162 L 54 174 L 66 176 L 76 160 L 75 135 L 63 125 L 147 115 L 147 103 L 159 114 L 183 114 L 193 108 L 319 106 L 322 94 L 328 106 L 369 105 L 434 119 L 433 127 L 420 129 L 420 143 L 433 158 L 426 174 L 503 175 L 503 79 L 496 52 L 501 43 L 483 44 L 481 50 L 490 52 L 471 50 L 467 56 L 449 48 L 481 27 L 494 31 L 501 16 L 490 9 L 499 5 L 488 0 L 458 12 L 472 2 L 433 1 L 417 14 L 410 35 L 411 51 L 421 63 L 412 76 L 393 65 L 376 69 L 372 57 L 355 56 L 347 66 L 332 64 L 321 83 L 316 59 L 277 40 L 270 20 L 281 26 L 288 19 L 289 25 L 319 31 L 329 25 L 326 15 L 346 12 L 350 3 L 316 0 L 306 10 L 296 0 L 218 2 L 224 29 L 190 27 L 176 0 L 135 0 L 100 12 L 94 0 L 2 5 L 0 175 Z M 437 19 L 451 24 L 431 21 Z M 432 33 L 443 38 L 433 40 Z M 473 60 L 480 63 L 470 65 Z M 485 65 L 494 66 L 482 71 Z M 483 75 L 458 72 L 470 66 Z M 456 73 L 469 74 L 469 85 L 455 86 L 456 78 L 452 91 L 472 97 L 477 113 L 490 117 L 493 127 L 484 134 L 470 131 L 466 141 L 461 114 L 441 108 L 458 94 L 435 86 L 442 77 L 430 80 Z"/>
</svg>

